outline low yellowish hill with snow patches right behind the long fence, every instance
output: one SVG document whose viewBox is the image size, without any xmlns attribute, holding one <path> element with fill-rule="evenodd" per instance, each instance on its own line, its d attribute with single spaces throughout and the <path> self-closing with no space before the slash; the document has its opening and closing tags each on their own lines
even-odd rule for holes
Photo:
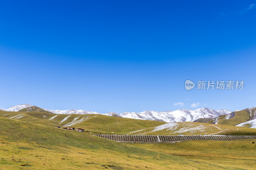
<svg viewBox="0 0 256 170">
<path fill-rule="evenodd" d="M 129 135 L 249 135 L 255 136 L 256 129 L 197 122 L 175 122 L 133 131 Z"/>
</svg>

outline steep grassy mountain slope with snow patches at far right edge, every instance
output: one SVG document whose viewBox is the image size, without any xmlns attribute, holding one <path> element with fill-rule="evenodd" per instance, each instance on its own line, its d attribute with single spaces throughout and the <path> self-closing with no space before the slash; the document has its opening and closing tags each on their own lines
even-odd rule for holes
<svg viewBox="0 0 256 170">
<path fill-rule="evenodd" d="M 217 118 L 212 119 L 208 123 L 223 124 L 223 125 L 238 125 L 247 121 L 252 121 L 256 119 L 255 109 L 256 109 L 255 107 L 250 107 L 244 110 L 232 112 L 227 115 L 220 115 Z"/>
</svg>

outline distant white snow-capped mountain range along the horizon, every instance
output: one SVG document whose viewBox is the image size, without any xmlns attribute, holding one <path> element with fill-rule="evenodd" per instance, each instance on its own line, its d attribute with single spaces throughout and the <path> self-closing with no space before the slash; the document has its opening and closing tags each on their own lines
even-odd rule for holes
<svg viewBox="0 0 256 170">
<path fill-rule="evenodd" d="M 32 105 L 25 104 L 25 105 L 17 105 L 10 107 L 9 109 L 1 109 L 4 111 L 18 111 L 25 107 L 30 107 Z M 86 110 L 51 110 L 51 109 L 44 109 L 48 112 L 52 112 L 55 114 L 101 114 L 99 112 L 91 112 Z M 136 112 L 124 112 L 121 114 L 115 112 L 108 112 L 106 114 L 101 115 L 117 115 L 124 118 L 132 118 L 132 119 L 141 119 L 141 120 L 157 120 L 157 121 L 164 121 L 164 122 L 193 122 L 200 118 L 215 118 L 220 115 L 226 115 L 231 113 L 231 111 L 222 109 L 222 110 L 214 110 L 210 108 L 199 108 L 195 110 L 187 110 L 187 109 L 179 109 L 175 111 L 164 111 L 164 112 L 157 112 L 157 111 L 144 111 L 140 113 Z"/>
</svg>

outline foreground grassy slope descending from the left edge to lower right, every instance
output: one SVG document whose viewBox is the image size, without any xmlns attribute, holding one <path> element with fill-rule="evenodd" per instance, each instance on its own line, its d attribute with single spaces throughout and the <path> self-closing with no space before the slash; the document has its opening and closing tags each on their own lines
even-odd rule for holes
<svg viewBox="0 0 256 170">
<path fill-rule="evenodd" d="M 0 118 L 0 169 L 226 169 L 86 133 Z"/>
</svg>

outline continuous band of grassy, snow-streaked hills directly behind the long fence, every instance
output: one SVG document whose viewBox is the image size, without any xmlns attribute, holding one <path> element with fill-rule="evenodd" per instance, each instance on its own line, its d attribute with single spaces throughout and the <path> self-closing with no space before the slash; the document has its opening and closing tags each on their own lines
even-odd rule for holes
<svg viewBox="0 0 256 170">
<path fill-rule="evenodd" d="M 144 133 L 145 135 L 256 135 L 256 129 L 247 127 L 198 122 L 166 123 L 106 115 L 63 115 L 46 112 L 0 111 L 0 117 L 52 127 L 83 128 L 85 131 L 92 132 L 92 134 L 113 134 L 111 132 L 114 132 L 114 134 L 121 135 L 143 135 Z M 160 129 L 158 129 L 159 127 Z"/>
</svg>

